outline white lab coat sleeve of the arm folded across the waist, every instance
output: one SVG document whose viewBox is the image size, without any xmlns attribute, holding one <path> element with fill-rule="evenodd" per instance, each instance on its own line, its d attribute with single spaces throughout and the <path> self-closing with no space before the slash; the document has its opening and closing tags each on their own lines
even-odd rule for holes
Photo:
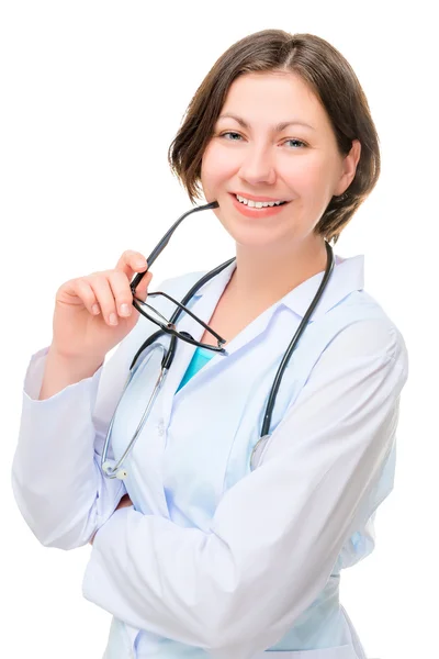
<svg viewBox="0 0 439 659">
<path fill-rule="evenodd" d="M 277 643 L 324 589 L 376 483 L 407 378 L 384 322 L 341 332 L 221 500 L 209 533 L 134 507 L 98 532 L 83 594 L 138 629 L 246 659 Z"/>
</svg>

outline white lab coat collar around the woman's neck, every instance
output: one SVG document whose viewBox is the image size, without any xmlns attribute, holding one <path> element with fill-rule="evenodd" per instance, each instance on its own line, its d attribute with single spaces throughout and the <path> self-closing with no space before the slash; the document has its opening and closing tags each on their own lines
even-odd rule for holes
<svg viewBox="0 0 439 659">
<path fill-rule="evenodd" d="M 196 292 L 194 298 L 201 298 L 204 294 L 219 299 L 226 288 L 232 275 L 236 268 L 234 260 L 227 268 L 207 281 Z M 323 280 L 324 271 L 317 272 L 309 279 L 306 279 L 300 286 L 286 293 L 281 300 L 275 302 L 270 309 L 273 312 L 281 304 L 293 311 L 297 316 L 303 317 Z M 349 293 L 364 288 L 364 256 L 358 255 L 349 258 L 335 255 L 335 267 L 326 290 L 315 308 L 311 321 L 324 315 L 327 311 L 336 306 Z M 219 294 L 218 294 L 219 293 Z"/>
</svg>

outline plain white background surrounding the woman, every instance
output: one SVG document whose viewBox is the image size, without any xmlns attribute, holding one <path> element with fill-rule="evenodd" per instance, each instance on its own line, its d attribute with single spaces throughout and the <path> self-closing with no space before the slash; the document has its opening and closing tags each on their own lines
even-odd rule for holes
<svg viewBox="0 0 439 659">
<path fill-rule="evenodd" d="M 1 4 L 0 551 L 1 644 L 9 659 L 98 659 L 111 621 L 81 595 L 91 547 L 66 552 L 40 546 L 10 485 L 22 381 L 31 354 L 50 343 L 55 292 L 71 277 L 113 267 L 126 248 L 147 256 L 191 208 L 168 168 L 168 146 L 216 58 L 267 27 L 331 42 L 353 66 L 381 137 L 381 179 L 336 252 L 365 255 L 367 290 L 402 331 L 410 372 L 395 490 L 378 514 L 375 551 L 342 573 L 341 602 L 369 657 L 436 656 L 439 217 L 431 5 Z M 233 254 L 213 213 L 192 215 L 159 259 L 153 282 L 211 268 Z"/>
</svg>

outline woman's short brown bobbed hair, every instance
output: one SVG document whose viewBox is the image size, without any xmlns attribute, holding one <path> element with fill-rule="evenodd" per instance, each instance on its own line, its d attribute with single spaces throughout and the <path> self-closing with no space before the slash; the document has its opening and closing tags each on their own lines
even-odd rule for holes
<svg viewBox="0 0 439 659">
<path fill-rule="evenodd" d="M 333 197 L 315 232 L 337 242 L 342 228 L 374 188 L 381 169 L 379 137 L 368 100 L 345 57 L 313 34 L 262 30 L 233 44 L 214 64 L 192 98 L 168 150 L 172 172 L 191 202 L 201 197 L 201 161 L 228 89 L 244 74 L 291 71 L 311 87 L 329 116 L 341 155 L 361 143 L 356 176 L 340 197 Z"/>
</svg>

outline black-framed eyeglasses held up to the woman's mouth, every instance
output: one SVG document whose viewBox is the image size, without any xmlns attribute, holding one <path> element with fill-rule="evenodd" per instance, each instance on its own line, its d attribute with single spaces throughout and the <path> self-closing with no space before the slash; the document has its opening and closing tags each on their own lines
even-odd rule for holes
<svg viewBox="0 0 439 659">
<path fill-rule="evenodd" d="M 184 220 L 184 217 L 187 217 L 191 213 L 195 213 L 196 211 L 206 211 L 210 209 L 216 209 L 216 208 L 218 208 L 218 205 L 219 204 L 217 201 L 212 201 L 211 203 L 207 203 L 202 206 L 198 206 L 196 209 L 191 209 L 187 213 L 183 213 L 183 215 L 181 215 L 181 217 L 179 217 L 177 220 L 177 222 L 175 224 L 172 224 L 170 230 L 167 231 L 167 233 L 164 235 L 161 241 L 158 243 L 158 245 L 156 245 L 156 247 L 153 249 L 153 252 L 146 259 L 147 264 L 148 264 L 148 270 L 149 270 L 150 266 L 154 264 L 154 261 L 156 260 L 156 258 L 165 249 L 165 247 L 169 243 L 171 235 L 173 234 L 173 232 L 176 231 L 178 225 Z M 142 313 L 143 316 L 148 319 L 148 321 L 150 321 L 151 323 L 155 323 L 156 325 L 158 325 L 167 334 L 171 334 L 172 336 L 176 336 L 177 338 L 181 338 L 181 340 L 184 340 L 185 343 L 189 343 L 193 346 L 199 346 L 200 348 L 206 348 L 207 350 L 214 350 L 217 353 L 224 351 L 223 345 L 226 343 L 226 339 L 222 338 L 219 336 L 219 334 L 217 334 L 214 330 L 212 330 L 212 327 L 206 325 L 201 319 L 199 319 L 195 314 L 193 314 L 190 309 L 188 309 L 187 306 L 181 304 L 181 302 L 179 302 L 178 300 L 175 300 L 173 298 L 168 295 L 168 293 L 162 293 L 161 291 L 156 291 L 154 293 L 148 293 L 147 299 L 155 298 L 157 295 L 162 295 L 167 300 L 170 300 L 171 302 L 173 302 L 173 304 L 176 304 L 176 306 L 178 308 L 177 313 L 173 314 L 173 316 L 172 316 L 173 321 L 182 312 L 188 313 L 192 319 L 194 319 L 194 321 L 196 321 L 202 327 L 204 327 L 204 330 L 207 330 L 207 332 L 210 332 L 216 338 L 216 340 L 217 340 L 216 346 L 195 340 L 189 334 L 189 332 L 179 332 L 177 330 L 172 319 L 170 321 L 167 320 L 159 311 L 157 311 L 157 309 L 154 309 L 154 306 L 151 306 L 147 302 L 144 302 L 143 300 L 140 300 L 139 298 L 136 297 L 136 288 L 138 287 L 139 282 L 142 281 L 142 278 L 145 277 L 145 275 L 148 270 L 145 270 L 145 272 L 138 272 L 133 278 L 133 281 L 131 282 L 131 291 L 133 293 L 133 306 L 139 313 Z"/>
</svg>

